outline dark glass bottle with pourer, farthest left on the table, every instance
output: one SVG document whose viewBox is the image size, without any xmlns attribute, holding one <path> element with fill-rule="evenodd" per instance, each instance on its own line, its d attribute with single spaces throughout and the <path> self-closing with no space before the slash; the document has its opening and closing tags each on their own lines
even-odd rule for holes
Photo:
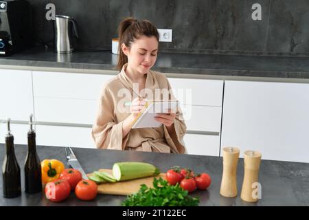
<svg viewBox="0 0 309 220">
<path fill-rule="evenodd" d="M 8 134 L 5 136 L 5 157 L 2 165 L 3 197 L 14 198 L 21 195 L 21 168 L 14 151 L 14 136 L 10 133 L 8 119 Z"/>
</svg>

